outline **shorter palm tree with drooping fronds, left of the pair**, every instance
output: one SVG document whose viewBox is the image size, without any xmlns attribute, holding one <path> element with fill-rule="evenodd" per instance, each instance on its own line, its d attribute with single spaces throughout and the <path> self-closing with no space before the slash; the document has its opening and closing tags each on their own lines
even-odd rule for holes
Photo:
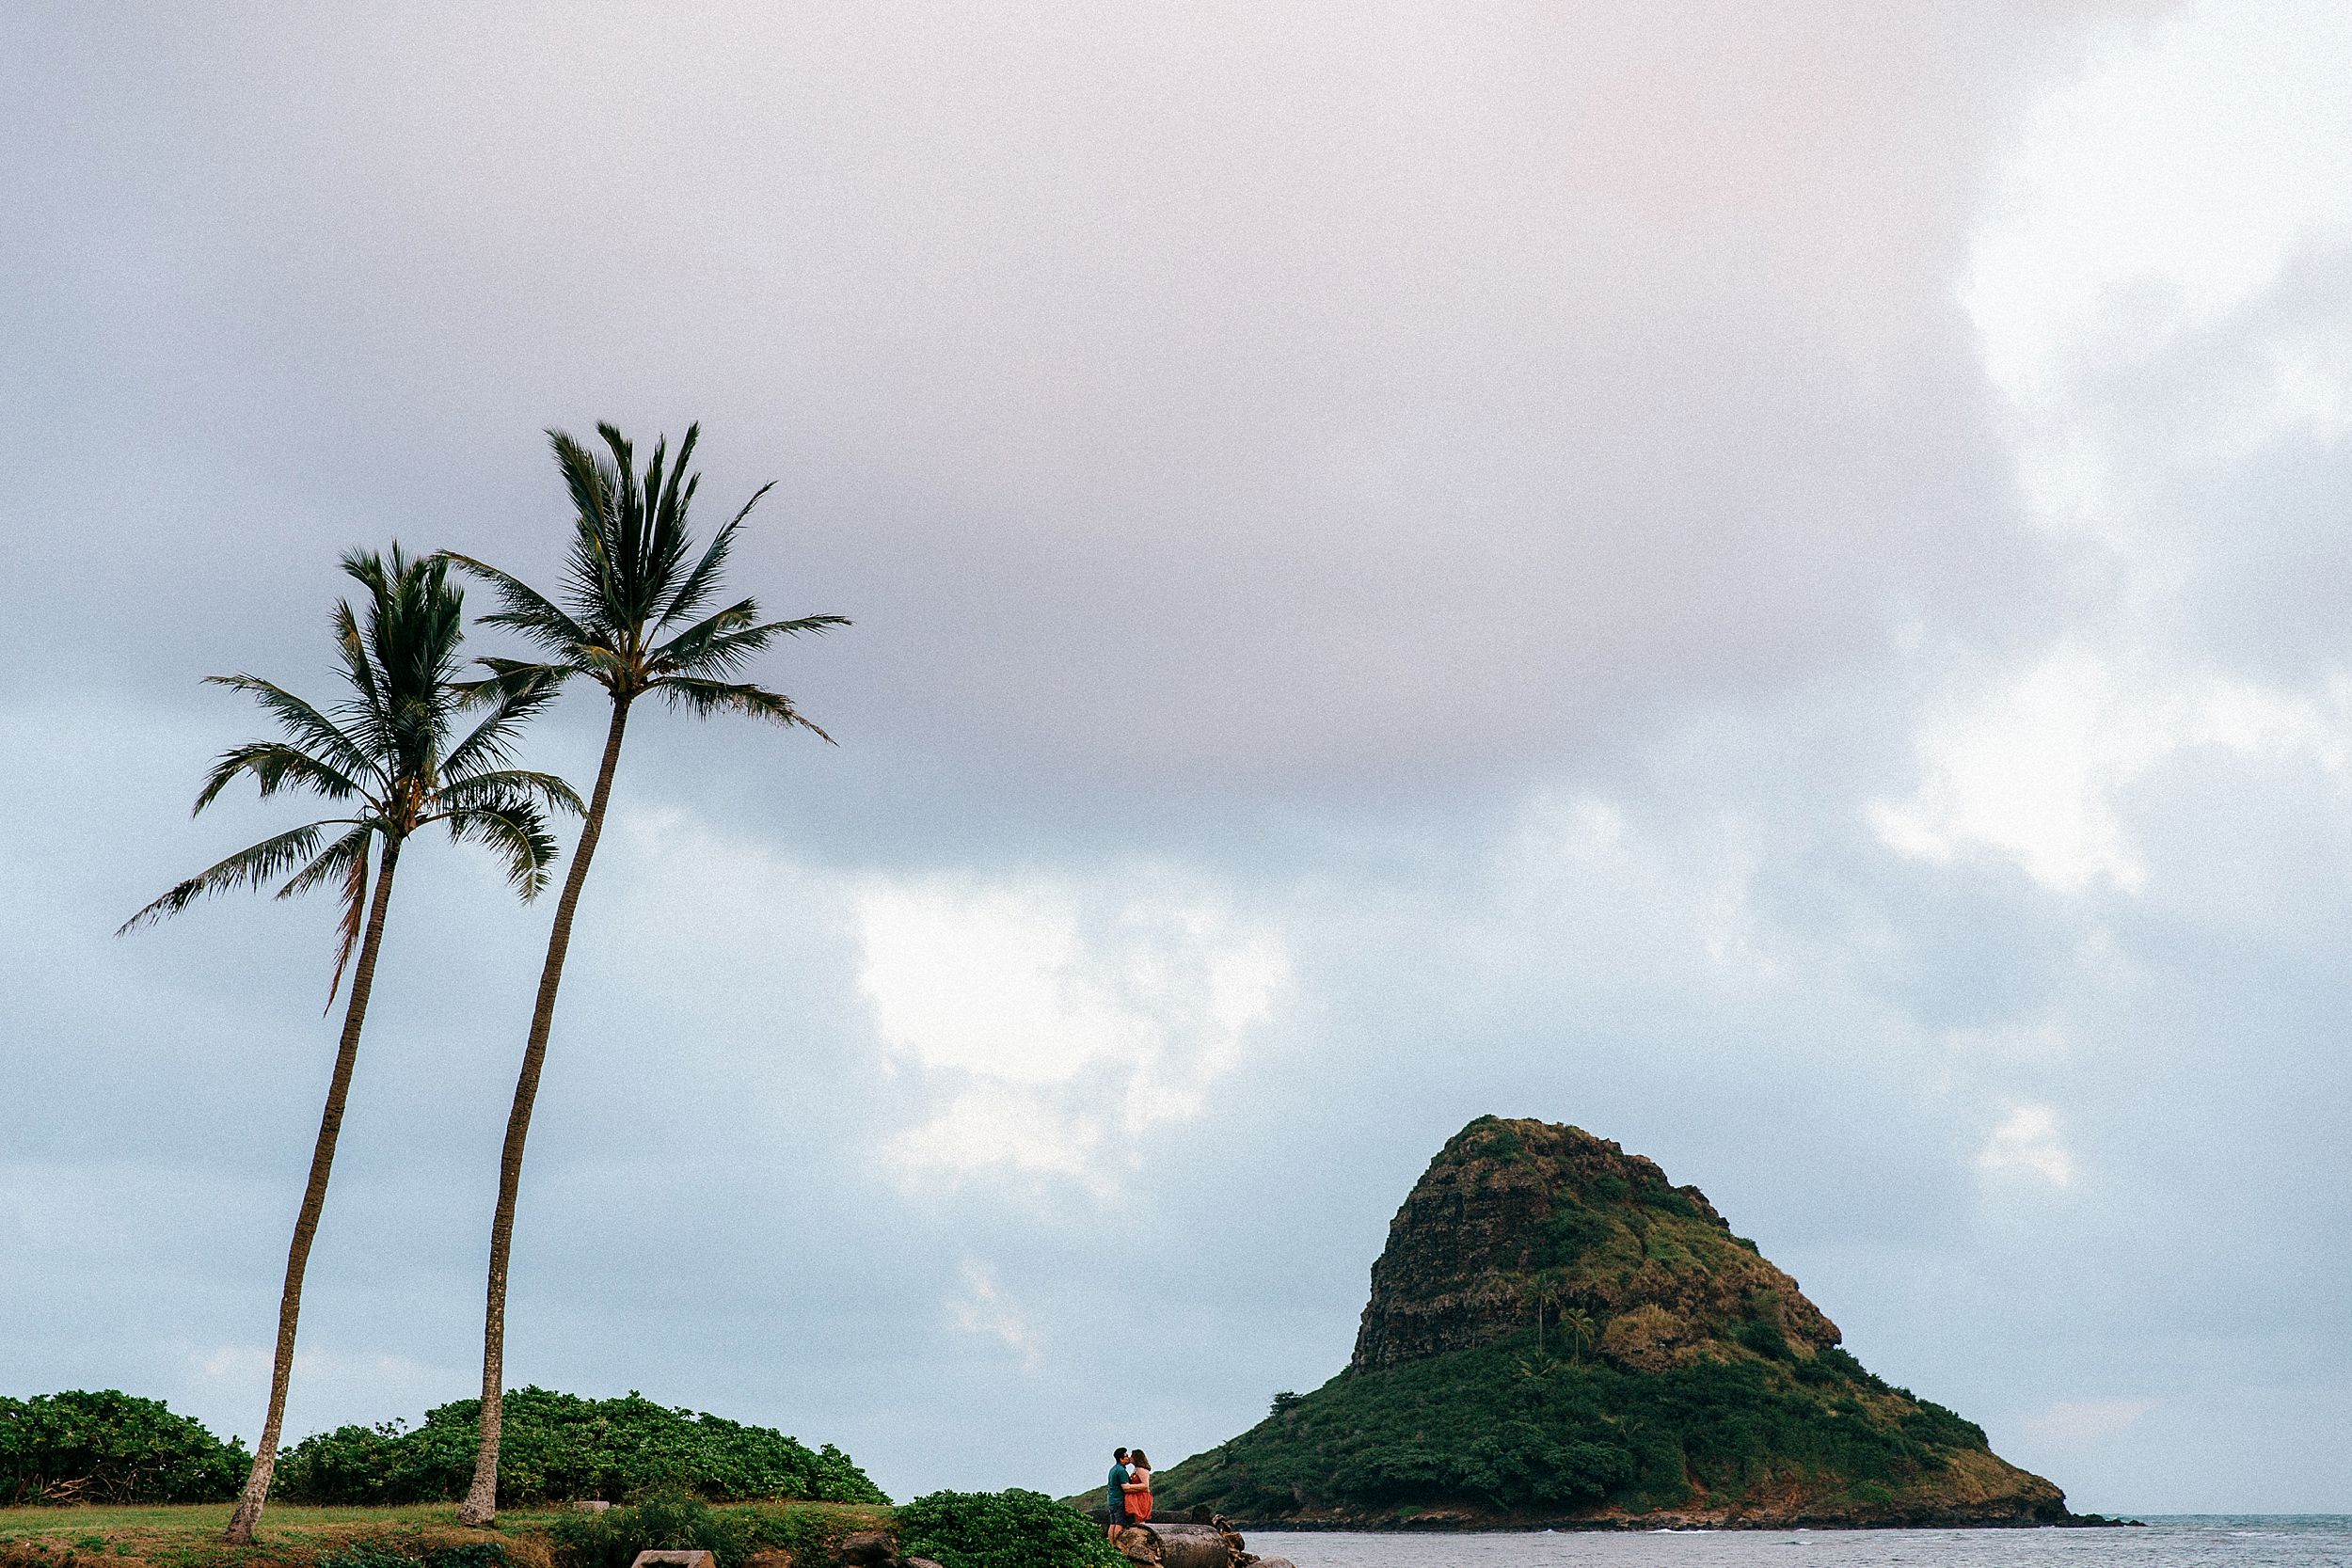
<svg viewBox="0 0 2352 1568">
<path fill-rule="evenodd" d="M 343 571 L 367 588 L 367 616 L 348 599 L 334 607 L 334 642 L 350 698 L 320 710 L 292 691 L 254 675 L 214 675 L 214 684 L 245 691 L 278 722 L 280 741 L 249 741 L 212 764 L 195 809 L 202 811 L 240 776 L 252 776 L 261 797 L 306 790 L 348 806 L 336 816 L 240 849 L 212 870 L 188 877 L 169 893 L 122 922 L 122 931 L 179 914 L 207 893 L 238 886 L 259 889 L 285 877 L 280 898 L 332 886 L 343 907 L 327 1006 L 350 964 L 350 1001 L 343 1039 L 327 1081 L 327 1107 L 318 1119 L 310 1182 L 294 1218 L 287 1279 L 278 1298 L 278 1359 L 270 1368 L 270 1410 L 254 1446 L 254 1469 L 228 1521 L 226 1540 L 252 1544 L 261 1505 L 270 1495 L 278 1436 L 285 1422 L 287 1380 L 294 1373 L 294 1324 L 301 1316 L 301 1279 L 310 1262 L 318 1215 L 327 1204 L 334 1143 L 343 1128 L 343 1100 L 360 1056 L 360 1025 L 376 980 L 383 945 L 383 912 L 393 900 L 400 849 L 433 823 L 459 842 L 485 844 L 506 860 L 506 877 L 522 898 L 546 886 L 555 863 L 555 835 L 546 809 L 579 811 L 572 785 L 550 773 L 506 766 L 515 729 L 553 696 L 548 684 L 515 682 L 496 693 L 489 712 L 456 745 L 449 743 L 463 696 L 454 684 L 463 642 L 463 595 L 449 585 L 440 559 L 409 559 L 393 545 L 390 559 L 350 552 Z M 369 891 L 369 851 L 376 856 Z M 120 931 L 118 931 L 120 936 Z"/>
</svg>

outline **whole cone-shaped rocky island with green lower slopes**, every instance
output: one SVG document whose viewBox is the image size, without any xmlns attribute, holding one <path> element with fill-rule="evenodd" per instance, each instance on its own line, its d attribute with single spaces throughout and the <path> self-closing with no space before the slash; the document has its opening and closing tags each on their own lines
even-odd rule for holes
<svg viewBox="0 0 2352 1568">
<path fill-rule="evenodd" d="M 1839 1349 L 1698 1187 L 1498 1117 L 1390 1222 L 1348 1368 L 1157 1490 L 1294 1528 L 2074 1521 L 1976 1422 Z"/>
</svg>

